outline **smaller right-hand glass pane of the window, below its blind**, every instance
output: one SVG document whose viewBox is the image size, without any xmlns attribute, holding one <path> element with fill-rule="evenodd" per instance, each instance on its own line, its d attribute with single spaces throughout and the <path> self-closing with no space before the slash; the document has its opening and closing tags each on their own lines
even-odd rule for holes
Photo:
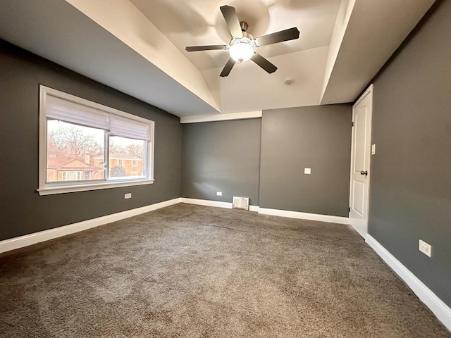
<svg viewBox="0 0 451 338">
<path fill-rule="evenodd" d="M 110 137 L 109 173 L 111 180 L 145 177 L 145 146 L 142 139 Z"/>
</svg>

